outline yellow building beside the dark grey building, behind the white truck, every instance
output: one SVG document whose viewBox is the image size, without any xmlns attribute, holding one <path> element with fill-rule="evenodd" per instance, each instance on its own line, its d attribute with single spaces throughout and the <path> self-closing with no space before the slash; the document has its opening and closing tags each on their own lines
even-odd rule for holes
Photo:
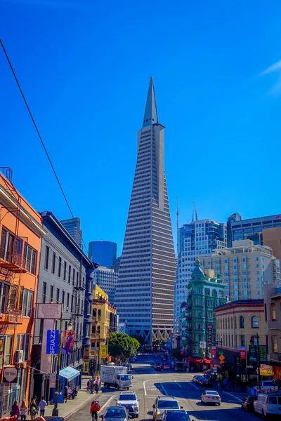
<svg viewBox="0 0 281 421">
<path fill-rule="evenodd" d="M 91 347 L 85 349 L 84 373 L 97 371 L 100 364 L 105 363 L 107 355 L 103 358 L 103 351 L 110 337 L 110 333 L 117 330 L 117 310 L 108 301 L 108 295 L 100 286 L 93 287 Z M 93 361 L 93 363 L 91 362 Z"/>
</svg>

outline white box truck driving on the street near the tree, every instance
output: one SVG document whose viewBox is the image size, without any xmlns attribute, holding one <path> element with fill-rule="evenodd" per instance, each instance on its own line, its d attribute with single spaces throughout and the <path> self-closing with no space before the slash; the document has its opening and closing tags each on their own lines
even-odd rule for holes
<svg viewBox="0 0 281 421">
<path fill-rule="evenodd" d="M 133 376 L 128 374 L 128 368 L 122 366 L 101 366 L 100 381 L 105 387 L 128 389 L 131 387 Z"/>
</svg>

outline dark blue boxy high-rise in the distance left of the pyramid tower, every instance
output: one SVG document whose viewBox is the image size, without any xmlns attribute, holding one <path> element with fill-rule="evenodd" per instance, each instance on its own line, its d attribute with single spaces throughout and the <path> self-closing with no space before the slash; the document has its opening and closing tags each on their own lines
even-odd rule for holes
<svg viewBox="0 0 281 421">
<path fill-rule="evenodd" d="M 117 243 L 112 241 L 91 241 L 89 243 L 89 258 L 100 266 L 112 267 L 117 257 Z"/>
</svg>

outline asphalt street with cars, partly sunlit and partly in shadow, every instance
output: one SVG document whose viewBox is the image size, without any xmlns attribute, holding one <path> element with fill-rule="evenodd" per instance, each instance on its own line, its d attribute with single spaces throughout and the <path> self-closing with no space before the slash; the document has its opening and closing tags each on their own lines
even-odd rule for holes
<svg viewBox="0 0 281 421">
<path fill-rule="evenodd" d="M 155 360 L 153 356 L 138 356 L 133 363 L 133 385 L 131 391 L 141 398 L 139 421 L 152 421 L 152 405 L 157 396 L 174 396 L 185 410 L 191 420 L 195 421 L 242 421 L 246 413 L 241 410 L 241 398 L 230 392 L 219 392 L 221 406 L 204 406 L 200 395 L 204 389 L 192 382 L 190 373 L 176 373 L 174 371 L 155 371 L 150 364 Z M 158 360 L 159 361 L 159 360 Z M 208 388 L 211 389 L 211 388 Z M 105 413 L 107 406 L 115 405 L 115 398 L 119 392 L 115 389 L 104 389 L 100 396 L 100 415 Z M 89 420 L 89 405 L 77 411 L 70 421 Z M 256 417 L 247 413 L 247 420 L 254 421 Z"/>
</svg>

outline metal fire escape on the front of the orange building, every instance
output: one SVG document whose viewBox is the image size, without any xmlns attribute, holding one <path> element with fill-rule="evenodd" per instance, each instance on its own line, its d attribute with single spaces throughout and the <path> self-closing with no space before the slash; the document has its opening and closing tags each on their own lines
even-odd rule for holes
<svg viewBox="0 0 281 421">
<path fill-rule="evenodd" d="M 14 205 L 1 206 L 0 223 L 9 213 L 15 217 L 15 229 L 6 237 L 1 232 L 0 243 L 0 282 L 1 288 L 1 309 L 0 309 L 0 335 L 5 335 L 8 327 L 15 326 L 15 323 L 22 323 L 22 309 L 19 307 L 20 279 L 22 273 L 27 272 L 27 259 L 22 256 L 22 246 L 27 239 L 18 235 L 20 225 L 21 197 L 13 186 L 12 170 L 8 167 L 0 167 L 4 177 L 5 190 L 12 197 Z M 5 222 L 5 221 L 4 221 Z"/>
</svg>

